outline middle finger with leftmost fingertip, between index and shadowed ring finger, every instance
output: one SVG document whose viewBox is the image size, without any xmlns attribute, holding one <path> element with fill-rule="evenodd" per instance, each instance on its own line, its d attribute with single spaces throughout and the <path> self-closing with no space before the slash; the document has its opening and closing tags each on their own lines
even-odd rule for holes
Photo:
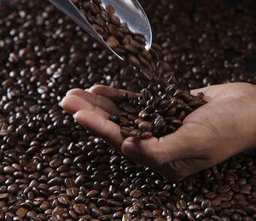
<svg viewBox="0 0 256 221">
<path fill-rule="evenodd" d="M 72 114 L 78 112 L 79 110 L 86 109 L 102 115 L 102 117 L 105 119 L 108 119 L 109 116 L 109 113 L 102 110 L 102 108 L 99 108 L 92 103 L 87 102 L 80 96 L 65 96 L 61 101 L 61 107 L 67 110 L 68 113 Z"/>
</svg>

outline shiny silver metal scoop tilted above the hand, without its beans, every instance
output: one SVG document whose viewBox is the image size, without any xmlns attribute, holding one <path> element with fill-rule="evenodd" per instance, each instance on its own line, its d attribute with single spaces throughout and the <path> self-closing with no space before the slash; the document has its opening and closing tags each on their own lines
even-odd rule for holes
<svg viewBox="0 0 256 221">
<path fill-rule="evenodd" d="M 74 20 L 85 32 L 88 32 L 90 36 L 96 38 L 106 48 L 110 49 L 114 55 L 119 57 L 119 59 L 124 60 L 122 56 L 118 55 L 108 46 L 102 36 L 96 32 L 90 25 L 90 22 L 84 18 L 79 12 L 79 9 L 77 9 L 70 0 L 49 0 L 49 2 L 53 3 L 56 8 L 60 9 Z M 147 15 L 137 0 L 102 0 L 102 4 L 104 7 L 108 4 L 113 5 L 115 14 L 119 16 L 121 22 L 126 23 L 132 32 L 143 34 L 146 40 L 145 49 L 150 49 L 152 43 L 151 27 Z"/>
</svg>

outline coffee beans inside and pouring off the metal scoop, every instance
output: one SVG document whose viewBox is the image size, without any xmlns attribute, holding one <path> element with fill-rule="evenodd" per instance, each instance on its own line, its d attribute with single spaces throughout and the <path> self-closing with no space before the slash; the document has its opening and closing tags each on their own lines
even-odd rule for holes
<svg viewBox="0 0 256 221">
<path fill-rule="evenodd" d="M 160 75 L 164 75 L 163 68 L 157 67 L 160 58 L 159 45 L 152 44 L 149 50 L 145 49 L 146 40 L 143 34 L 132 32 L 115 14 L 113 5 L 104 6 L 101 0 L 73 0 L 73 3 L 108 46 L 142 74 L 141 78 L 154 80 L 162 86 L 162 90 L 166 88 L 166 79 L 160 78 Z"/>
</svg>

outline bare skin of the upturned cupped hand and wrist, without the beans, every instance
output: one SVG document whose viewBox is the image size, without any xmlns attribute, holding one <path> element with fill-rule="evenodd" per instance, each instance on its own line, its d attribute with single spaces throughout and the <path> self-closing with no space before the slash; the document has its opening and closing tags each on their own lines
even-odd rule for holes
<svg viewBox="0 0 256 221">
<path fill-rule="evenodd" d="M 108 120 L 119 113 L 113 102 L 125 90 L 96 85 L 73 89 L 61 107 L 86 129 L 104 138 L 137 163 L 149 166 L 171 181 L 199 172 L 256 146 L 256 86 L 247 83 L 213 85 L 198 90 L 207 104 L 197 108 L 174 133 L 160 138 L 123 137 Z M 127 91 L 126 91 L 127 92 Z M 135 96 L 128 91 L 129 96 Z"/>
</svg>

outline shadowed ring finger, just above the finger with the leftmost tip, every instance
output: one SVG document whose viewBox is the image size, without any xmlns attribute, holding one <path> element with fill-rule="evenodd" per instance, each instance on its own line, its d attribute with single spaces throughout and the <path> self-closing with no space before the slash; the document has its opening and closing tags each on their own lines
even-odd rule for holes
<svg viewBox="0 0 256 221">
<path fill-rule="evenodd" d="M 114 102 L 109 100 L 104 96 L 99 96 L 90 92 L 87 92 L 82 89 L 73 89 L 67 92 L 67 96 L 79 96 L 84 100 L 90 102 L 92 105 L 102 108 L 110 114 L 118 114 L 119 108 L 115 105 Z"/>
</svg>

